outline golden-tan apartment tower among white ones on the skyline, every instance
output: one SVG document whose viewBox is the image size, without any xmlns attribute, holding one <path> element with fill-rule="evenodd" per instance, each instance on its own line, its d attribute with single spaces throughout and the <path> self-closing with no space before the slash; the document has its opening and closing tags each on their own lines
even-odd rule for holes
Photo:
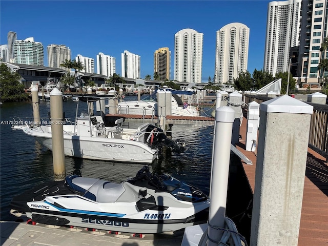
<svg viewBox="0 0 328 246">
<path fill-rule="evenodd" d="M 154 73 L 158 73 L 160 80 L 170 80 L 171 51 L 168 47 L 159 48 L 154 53 Z"/>
</svg>

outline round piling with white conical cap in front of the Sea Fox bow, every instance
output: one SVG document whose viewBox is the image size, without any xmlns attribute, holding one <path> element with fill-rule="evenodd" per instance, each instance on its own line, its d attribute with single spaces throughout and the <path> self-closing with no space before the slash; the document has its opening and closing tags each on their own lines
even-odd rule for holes
<svg viewBox="0 0 328 246">
<path fill-rule="evenodd" d="M 63 131 L 63 93 L 57 88 L 50 92 L 50 121 L 54 180 L 64 180 L 65 154 L 64 154 L 64 131 Z"/>
</svg>

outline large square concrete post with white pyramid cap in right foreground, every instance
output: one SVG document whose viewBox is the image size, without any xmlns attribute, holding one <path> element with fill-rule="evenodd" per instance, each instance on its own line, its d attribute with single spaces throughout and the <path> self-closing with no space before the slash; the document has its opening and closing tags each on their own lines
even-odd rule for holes
<svg viewBox="0 0 328 246">
<path fill-rule="evenodd" d="M 260 104 L 251 246 L 298 244 L 312 113 L 288 95 Z"/>
</svg>

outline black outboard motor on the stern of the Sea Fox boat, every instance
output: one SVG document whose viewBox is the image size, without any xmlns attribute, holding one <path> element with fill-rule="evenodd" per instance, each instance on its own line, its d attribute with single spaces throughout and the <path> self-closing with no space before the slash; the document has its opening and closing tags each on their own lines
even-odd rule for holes
<svg viewBox="0 0 328 246">
<path fill-rule="evenodd" d="M 149 125 L 145 133 L 145 143 L 151 148 L 157 148 L 158 146 L 167 146 L 172 151 L 180 154 L 185 151 L 186 144 L 180 142 L 180 140 L 173 141 L 168 138 L 162 129 L 155 127 L 154 125 Z"/>
</svg>

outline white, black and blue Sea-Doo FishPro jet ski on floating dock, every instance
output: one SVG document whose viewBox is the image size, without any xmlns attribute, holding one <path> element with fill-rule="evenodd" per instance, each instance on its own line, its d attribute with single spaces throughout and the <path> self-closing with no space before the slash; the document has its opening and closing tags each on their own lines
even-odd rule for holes
<svg viewBox="0 0 328 246">
<path fill-rule="evenodd" d="M 10 206 L 12 214 L 25 214 L 32 223 L 154 234 L 206 223 L 210 199 L 144 166 L 122 183 L 70 175 L 13 197 Z"/>
</svg>

